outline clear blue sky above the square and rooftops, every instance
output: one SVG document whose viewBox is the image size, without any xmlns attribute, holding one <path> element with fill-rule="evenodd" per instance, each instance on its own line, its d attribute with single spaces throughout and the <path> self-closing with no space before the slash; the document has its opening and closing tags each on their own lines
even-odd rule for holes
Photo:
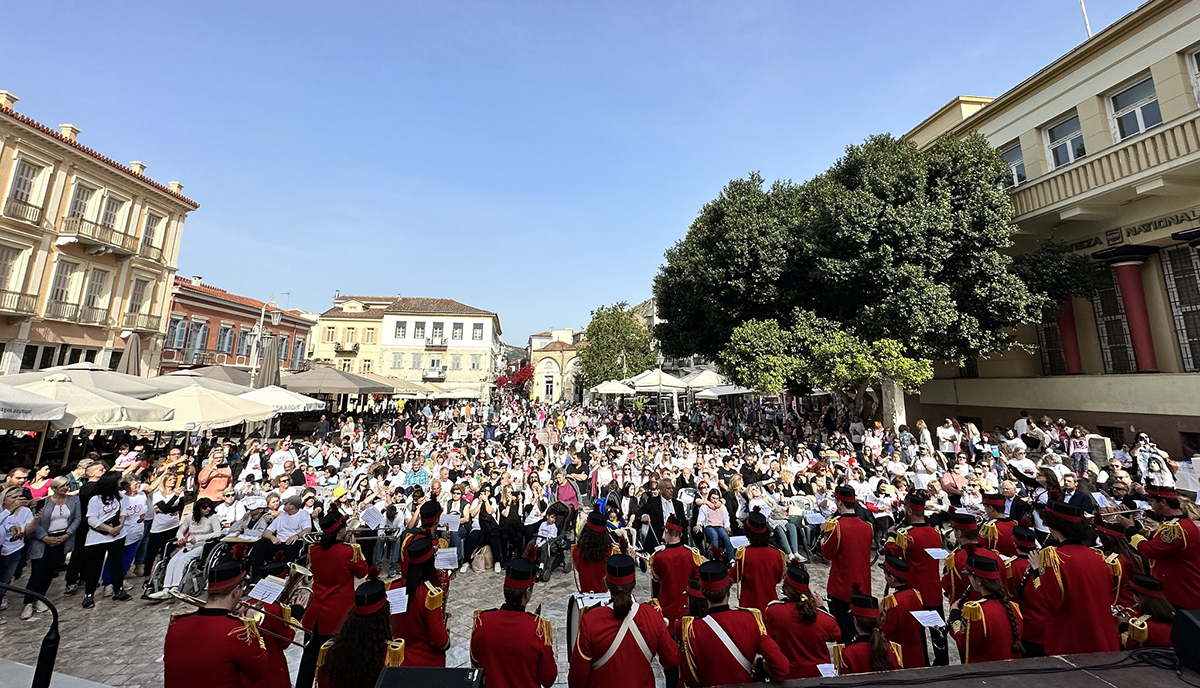
<svg viewBox="0 0 1200 688">
<path fill-rule="evenodd" d="M 1093 31 L 1138 4 L 1087 0 Z M 180 274 L 449 297 L 521 346 L 648 298 L 730 179 L 808 179 L 1086 36 L 1078 0 L 2 7 L 19 112 L 200 203 Z"/>
</svg>

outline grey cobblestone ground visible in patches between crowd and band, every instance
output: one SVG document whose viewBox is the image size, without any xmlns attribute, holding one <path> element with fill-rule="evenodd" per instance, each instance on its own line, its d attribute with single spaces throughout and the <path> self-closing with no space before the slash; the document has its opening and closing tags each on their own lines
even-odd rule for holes
<svg viewBox="0 0 1200 688">
<path fill-rule="evenodd" d="M 824 590 L 828 567 L 810 566 L 812 585 Z M 28 568 L 26 574 L 28 576 Z M 16 585 L 24 585 L 26 579 L 18 579 Z M 492 609 L 503 602 L 503 575 L 486 572 L 457 574 L 451 585 L 448 609 L 450 611 L 450 651 L 446 654 L 448 666 L 466 666 L 469 663 L 468 642 L 470 624 L 476 609 Z M 876 570 L 876 593 L 883 590 L 883 581 Z M 162 642 L 167 632 L 170 614 L 185 609 L 182 603 L 148 604 L 132 599 L 113 602 L 110 598 L 97 597 L 96 606 L 86 610 L 79 605 L 83 592 L 76 597 L 62 594 L 62 578 L 59 576 L 50 586 L 49 598 L 59 608 L 59 645 L 55 670 L 79 678 L 88 678 L 108 686 L 127 688 L 158 688 L 162 686 Z M 140 591 L 138 591 L 140 592 Z M 566 682 L 566 666 L 570 656 L 566 647 L 566 608 L 570 594 L 575 592 L 575 579 L 562 570 L 554 573 L 547 584 L 538 584 L 534 588 L 530 610 L 541 605 L 542 616 L 553 624 L 554 651 L 558 657 L 559 682 Z M 637 599 L 650 597 L 648 574 L 638 574 Z M 20 621 L 22 600 L 6 597 L 8 610 L 2 612 L 6 621 L 0 626 L 0 657 L 32 665 L 42 636 L 49 629 L 50 615 L 37 614 L 30 621 Z M 299 650 L 289 651 L 289 664 L 293 672 L 299 663 Z M 197 648 L 197 664 L 203 666 L 203 648 Z"/>
</svg>

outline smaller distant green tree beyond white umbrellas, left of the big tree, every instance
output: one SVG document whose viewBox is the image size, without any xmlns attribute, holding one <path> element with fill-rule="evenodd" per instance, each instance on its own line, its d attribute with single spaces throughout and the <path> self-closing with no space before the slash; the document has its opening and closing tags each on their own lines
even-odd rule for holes
<svg viewBox="0 0 1200 688">
<path fill-rule="evenodd" d="M 646 322 L 622 301 L 592 311 L 587 346 L 580 349 L 575 383 L 590 388 L 654 367 L 656 354 Z"/>
</svg>

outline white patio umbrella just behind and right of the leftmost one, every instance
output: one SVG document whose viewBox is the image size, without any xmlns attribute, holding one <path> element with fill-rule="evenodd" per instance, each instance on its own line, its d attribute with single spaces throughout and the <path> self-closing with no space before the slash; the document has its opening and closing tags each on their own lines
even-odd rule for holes
<svg viewBox="0 0 1200 688">
<path fill-rule="evenodd" d="M 66 413 L 52 420 L 50 427 L 88 427 L 91 430 L 124 430 L 145 423 L 170 420 L 170 408 L 103 389 L 77 384 L 71 376 L 50 373 L 38 382 L 18 385 L 25 391 L 66 403 Z"/>
</svg>

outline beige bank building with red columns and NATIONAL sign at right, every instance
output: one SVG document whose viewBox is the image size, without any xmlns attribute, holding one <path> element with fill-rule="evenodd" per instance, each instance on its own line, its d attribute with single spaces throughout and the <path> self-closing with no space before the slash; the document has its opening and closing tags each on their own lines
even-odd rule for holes
<svg viewBox="0 0 1200 688">
<path fill-rule="evenodd" d="M 1014 349 L 938 369 L 908 417 L 1012 426 L 1019 409 L 1117 442 L 1200 453 L 1200 0 L 1151 0 L 995 100 L 961 96 L 908 132 L 983 133 L 1008 162 L 1015 251 L 1046 237 L 1100 267 Z"/>
</svg>

